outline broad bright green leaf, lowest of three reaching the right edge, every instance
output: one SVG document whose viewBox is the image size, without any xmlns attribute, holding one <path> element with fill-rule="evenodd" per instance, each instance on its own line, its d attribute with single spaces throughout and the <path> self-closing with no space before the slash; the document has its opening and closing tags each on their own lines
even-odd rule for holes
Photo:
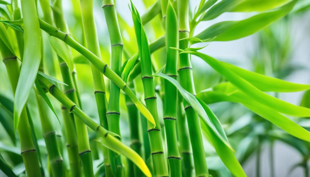
<svg viewBox="0 0 310 177">
<path fill-rule="evenodd" d="M 197 97 L 204 101 L 206 104 L 221 102 L 221 101 L 230 101 L 241 103 L 247 108 L 249 108 L 254 113 L 259 116 L 267 119 L 274 125 L 278 126 L 287 133 L 305 141 L 310 142 L 310 132 L 299 126 L 289 118 L 278 113 L 276 110 L 269 108 L 245 95 L 240 91 L 236 91 L 231 95 L 226 95 L 224 93 L 216 91 L 206 91 L 197 94 Z"/>
</svg>

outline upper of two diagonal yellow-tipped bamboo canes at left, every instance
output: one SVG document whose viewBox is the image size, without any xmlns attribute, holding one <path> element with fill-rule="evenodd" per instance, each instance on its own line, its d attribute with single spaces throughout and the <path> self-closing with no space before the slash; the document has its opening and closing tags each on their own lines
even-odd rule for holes
<svg viewBox="0 0 310 177">
<path fill-rule="evenodd" d="M 130 97 L 130 99 L 135 104 L 136 108 L 144 115 L 144 117 L 148 120 L 149 124 L 154 126 L 155 120 L 152 114 L 144 107 L 144 105 L 138 100 L 136 95 L 127 87 L 127 84 L 119 77 L 109 66 L 100 60 L 95 54 L 91 53 L 91 51 L 87 50 L 84 46 L 76 42 L 70 35 L 60 31 L 59 29 L 51 26 L 45 21 L 39 19 L 40 28 L 49 33 L 50 35 L 64 41 L 67 45 L 78 51 L 82 54 L 87 60 L 89 60 L 92 64 L 95 65 L 96 68 L 100 70 L 108 79 L 110 79 L 114 84 L 116 84 L 122 91 L 126 93 Z"/>
</svg>

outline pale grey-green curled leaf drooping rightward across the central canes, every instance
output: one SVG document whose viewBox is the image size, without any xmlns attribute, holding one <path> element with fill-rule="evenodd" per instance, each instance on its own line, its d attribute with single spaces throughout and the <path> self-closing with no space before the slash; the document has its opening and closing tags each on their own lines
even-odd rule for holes
<svg viewBox="0 0 310 177">
<path fill-rule="evenodd" d="M 232 149 L 231 145 L 229 144 L 227 137 L 225 133 L 220 130 L 221 126 L 218 126 L 218 122 L 215 120 L 211 120 L 210 117 L 208 117 L 206 111 L 201 106 L 199 101 L 188 91 L 186 91 L 175 79 L 172 77 L 167 76 L 166 74 L 157 72 L 156 74 L 153 74 L 153 76 L 156 77 L 162 77 L 169 82 L 171 82 L 180 92 L 180 94 L 183 96 L 184 100 L 186 100 L 195 110 L 195 112 L 200 116 L 201 119 L 203 119 L 203 122 L 205 122 L 208 127 L 212 130 L 212 132 L 215 133 L 215 135 L 230 149 Z M 214 122 L 213 122 L 214 121 Z M 214 125 L 216 123 L 216 125 Z M 223 135 L 224 133 L 224 135 Z M 233 150 L 233 149 L 232 149 Z"/>
</svg>

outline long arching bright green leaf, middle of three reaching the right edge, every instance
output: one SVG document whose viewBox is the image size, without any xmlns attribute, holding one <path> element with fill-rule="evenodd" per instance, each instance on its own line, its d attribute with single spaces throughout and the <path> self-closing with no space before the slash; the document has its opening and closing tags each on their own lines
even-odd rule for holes
<svg viewBox="0 0 310 177">
<path fill-rule="evenodd" d="M 299 117 L 310 117 L 309 108 L 290 104 L 260 91 L 251 83 L 247 82 L 245 79 L 229 70 L 229 68 L 225 64 L 208 55 L 199 53 L 197 51 L 183 51 L 181 53 L 190 53 L 200 57 L 218 73 L 226 77 L 226 79 L 231 82 L 235 87 L 237 87 L 240 91 L 244 92 L 246 95 L 250 96 L 250 98 L 253 98 L 261 104 L 275 109 L 280 113 Z"/>
</svg>

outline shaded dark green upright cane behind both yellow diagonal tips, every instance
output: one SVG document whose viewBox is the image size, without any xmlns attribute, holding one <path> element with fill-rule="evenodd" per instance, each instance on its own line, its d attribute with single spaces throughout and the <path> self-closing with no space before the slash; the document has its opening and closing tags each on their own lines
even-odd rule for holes
<svg viewBox="0 0 310 177">
<path fill-rule="evenodd" d="M 134 91 L 134 82 L 128 84 L 129 88 Z M 130 129 L 130 147 L 142 157 L 142 143 L 140 139 L 140 116 L 138 109 L 130 98 L 125 95 L 126 106 L 128 110 L 129 129 Z M 135 176 L 142 176 L 142 171 L 136 166 L 133 166 Z"/>
</svg>

